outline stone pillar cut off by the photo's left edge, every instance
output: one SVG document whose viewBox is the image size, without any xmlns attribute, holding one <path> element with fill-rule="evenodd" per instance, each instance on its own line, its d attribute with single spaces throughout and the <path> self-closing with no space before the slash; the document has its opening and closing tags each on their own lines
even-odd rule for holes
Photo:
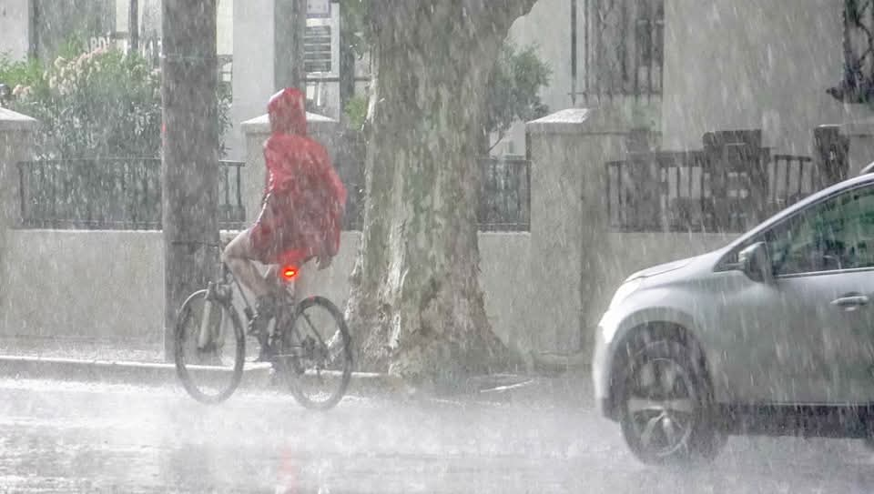
<svg viewBox="0 0 874 494">
<path fill-rule="evenodd" d="M 0 303 L 8 289 L 5 274 L 10 230 L 21 219 L 17 164 L 31 159 L 35 129 L 35 119 L 0 108 Z"/>
</svg>

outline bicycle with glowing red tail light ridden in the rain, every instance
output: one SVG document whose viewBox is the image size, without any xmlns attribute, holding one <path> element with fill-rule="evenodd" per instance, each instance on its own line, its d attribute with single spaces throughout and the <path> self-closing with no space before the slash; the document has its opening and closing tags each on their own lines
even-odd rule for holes
<svg viewBox="0 0 874 494">
<path fill-rule="evenodd" d="M 295 302 L 289 286 L 297 277 L 297 268 L 270 267 L 277 310 L 269 320 L 266 335 L 256 335 L 252 325 L 255 312 L 249 298 L 227 265 L 222 263 L 221 267 L 221 281 L 210 282 L 192 293 L 178 310 L 174 353 L 178 378 L 188 394 L 202 403 L 220 403 L 238 388 L 243 370 L 249 365 L 272 368 L 306 408 L 328 409 L 340 402 L 352 368 L 349 328 L 340 310 L 325 297 Z M 246 316 L 246 331 L 238 307 Z M 329 332 L 318 330 L 324 327 Z M 259 338 L 259 346 L 266 346 L 266 362 L 255 362 L 253 354 L 247 353 L 247 337 Z M 231 358 L 226 361 L 226 356 Z M 199 382 L 201 378 L 203 382 Z M 319 391 L 317 396 L 307 393 L 308 385 Z"/>
</svg>

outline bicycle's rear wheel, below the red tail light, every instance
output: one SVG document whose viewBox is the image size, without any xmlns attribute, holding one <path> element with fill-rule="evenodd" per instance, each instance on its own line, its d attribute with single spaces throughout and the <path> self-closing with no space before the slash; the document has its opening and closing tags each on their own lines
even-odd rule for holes
<svg viewBox="0 0 874 494">
<path fill-rule="evenodd" d="M 301 301 L 279 338 L 276 362 L 304 407 L 324 410 L 340 402 L 352 373 L 351 338 L 340 309 L 324 297 Z"/>
</svg>

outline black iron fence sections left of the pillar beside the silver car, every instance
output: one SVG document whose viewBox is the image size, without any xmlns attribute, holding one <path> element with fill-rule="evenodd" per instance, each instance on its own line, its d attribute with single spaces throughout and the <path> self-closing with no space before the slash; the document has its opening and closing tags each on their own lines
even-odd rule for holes
<svg viewBox="0 0 874 494">
<path fill-rule="evenodd" d="M 363 156 L 356 153 L 355 156 Z M 243 227 L 242 162 L 219 169 L 219 226 Z M 363 160 L 341 157 L 337 168 L 348 200 L 344 229 L 363 225 Z M 517 157 L 479 160 L 483 191 L 477 209 L 482 231 L 528 231 L 530 162 Z M 161 161 L 156 158 L 39 160 L 18 164 L 21 227 L 159 229 Z"/>
</svg>

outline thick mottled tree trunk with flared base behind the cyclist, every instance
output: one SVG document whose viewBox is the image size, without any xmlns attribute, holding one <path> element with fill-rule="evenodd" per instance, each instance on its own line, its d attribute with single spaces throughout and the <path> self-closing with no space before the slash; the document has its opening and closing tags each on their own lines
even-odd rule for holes
<svg viewBox="0 0 874 494">
<path fill-rule="evenodd" d="M 478 280 L 476 158 L 486 81 L 532 4 L 371 4 L 367 199 L 348 306 L 365 368 L 442 389 L 508 361 Z"/>
</svg>

